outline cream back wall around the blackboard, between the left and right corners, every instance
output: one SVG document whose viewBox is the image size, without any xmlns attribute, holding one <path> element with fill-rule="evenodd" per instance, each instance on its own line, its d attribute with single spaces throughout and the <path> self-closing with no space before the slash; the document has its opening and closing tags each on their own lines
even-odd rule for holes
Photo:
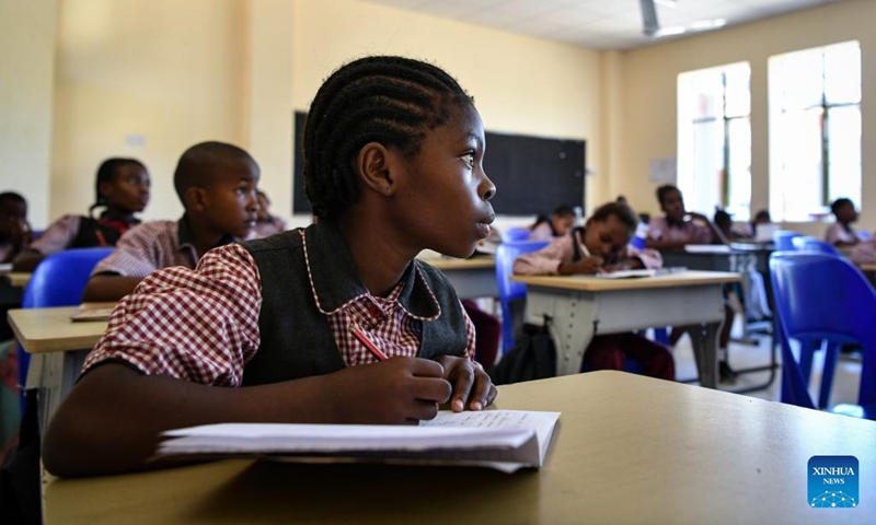
<svg viewBox="0 0 876 525">
<path fill-rule="evenodd" d="M 51 218 L 85 210 L 108 155 L 149 167 L 146 219 L 177 217 L 175 162 L 208 139 L 250 149 L 273 211 L 288 218 L 292 110 L 307 109 L 337 66 L 377 52 L 449 70 L 475 96 L 488 130 L 584 139 L 588 164 L 599 165 L 598 51 L 354 0 L 59 5 Z"/>
</svg>

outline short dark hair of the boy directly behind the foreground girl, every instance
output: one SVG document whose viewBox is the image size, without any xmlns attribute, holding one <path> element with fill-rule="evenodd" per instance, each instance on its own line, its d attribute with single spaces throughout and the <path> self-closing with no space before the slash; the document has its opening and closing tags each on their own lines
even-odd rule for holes
<svg viewBox="0 0 876 525">
<path fill-rule="evenodd" d="M 208 187 L 215 180 L 211 175 L 232 160 L 243 160 L 255 165 L 255 160 L 245 150 L 226 142 L 200 142 L 185 150 L 173 173 L 173 187 L 185 207 L 185 192 L 193 187 Z"/>
</svg>

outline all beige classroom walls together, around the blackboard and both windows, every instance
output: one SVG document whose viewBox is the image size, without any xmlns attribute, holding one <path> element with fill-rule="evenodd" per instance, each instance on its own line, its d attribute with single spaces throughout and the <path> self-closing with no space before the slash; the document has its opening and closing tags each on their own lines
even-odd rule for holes
<svg viewBox="0 0 876 525">
<path fill-rule="evenodd" d="M 292 110 L 306 109 L 338 65 L 378 52 L 446 68 L 475 96 L 488 130 L 587 140 L 595 172 L 588 209 L 622 192 L 652 212 L 648 162 L 676 155 L 678 73 L 748 60 L 752 201 L 761 208 L 769 200 L 768 58 L 852 38 L 864 54 L 862 225 L 876 225 L 876 105 L 866 102 L 876 82 L 876 62 L 867 59 L 876 52 L 867 25 L 876 19 L 872 0 L 630 52 L 580 49 L 354 0 L 8 0 L 2 9 L 3 42 L 30 45 L 24 52 L 11 45 L 0 51 L 0 176 L 9 180 L 4 186 L 28 194 L 37 228 L 82 212 L 93 199 L 97 163 L 113 154 L 138 156 L 152 172 L 147 219 L 178 215 L 171 185 L 176 159 L 208 139 L 249 148 L 274 211 L 288 217 Z M 820 232 L 823 225 L 800 228 Z"/>
</svg>

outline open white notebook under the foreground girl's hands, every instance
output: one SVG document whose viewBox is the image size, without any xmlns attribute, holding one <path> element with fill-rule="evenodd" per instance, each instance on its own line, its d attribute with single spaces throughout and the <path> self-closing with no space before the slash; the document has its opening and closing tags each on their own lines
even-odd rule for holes
<svg viewBox="0 0 876 525">
<path fill-rule="evenodd" d="M 544 464 L 560 412 L 441 411 L 417 427 L 221 423 L 164 432 L 155 458 L 268 457 L 484 466 L 505 472 Z"/>
</svg>

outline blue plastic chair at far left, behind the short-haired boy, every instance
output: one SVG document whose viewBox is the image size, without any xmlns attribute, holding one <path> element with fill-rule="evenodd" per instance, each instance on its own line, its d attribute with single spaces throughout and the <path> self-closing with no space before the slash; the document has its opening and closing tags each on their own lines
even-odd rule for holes
<svg viewBox="0 0 876 525">
<path fill-rule="evenodd" d="M 22 307 L 45 308 L 80 304 L 91 270 L 112 254 L 113 249 L 113 247 L 71 248 L 49 255 L 39 262 L 31 280 L 27 281 Z M 27 380 L 30 363 L 31 354 L 19 346 L 20 385 L 24 385 Z"/>
</svg>

